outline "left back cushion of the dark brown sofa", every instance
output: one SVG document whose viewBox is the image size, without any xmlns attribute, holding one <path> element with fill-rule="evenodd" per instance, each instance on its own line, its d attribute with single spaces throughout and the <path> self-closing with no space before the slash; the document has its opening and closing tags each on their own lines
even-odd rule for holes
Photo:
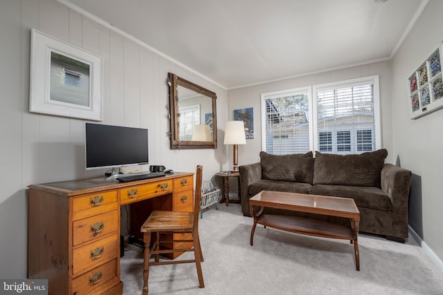
<svg viewBox="0 0 443 295">
<path fill-rule="evenodd" d="M 260 163 L 262 179 L 312 184 L 314 158 L 311 151 L 291 155 L 271 155 L 261 151 Z"/>
</svg>

